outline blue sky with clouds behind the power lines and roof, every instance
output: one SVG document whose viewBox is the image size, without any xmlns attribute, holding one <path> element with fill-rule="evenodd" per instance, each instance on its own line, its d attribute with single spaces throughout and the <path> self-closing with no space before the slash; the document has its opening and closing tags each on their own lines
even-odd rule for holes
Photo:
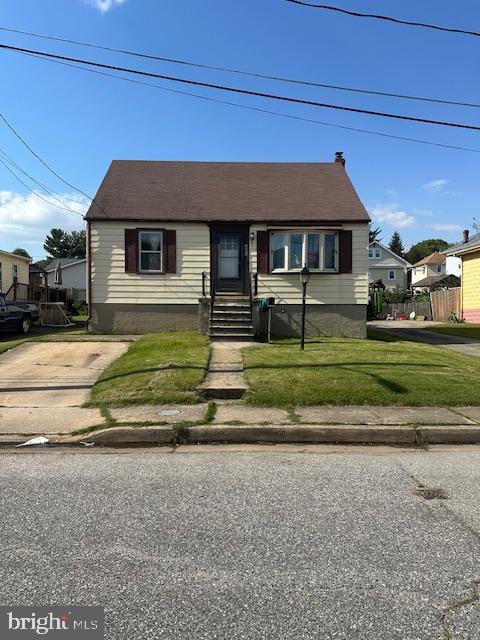
<svg viewBox="0 0 480 640">
<path fill-rule="evenodd" d="M 336 4 L 466 29 L 480 24 L 476 0 Z M 3 0 L 0 26 L 309 81 L 480 103 L 479 38 L 355 19 L 284 0 Z M 480 125 L 478 109 L 201 71 L 5 32 L 0 32 L 0 42 L 247 89 Z M 11 52 L 1 51 L 0 56 L 1 112 L 58 173 L 89 194 L 113 158 L 324 162 L 342 150 L 384 241 L 395 229 L 407 246 L 428 237 L 454 241 L 463 228 L 471 227 L 474 216 L 480 218 L 480 154 L 256 113 Z M 480 149 L 480 132 L 186 90 L 331 124 Z M 3 125 L 0 148 L 68 207 L 83 211 L 79 194 L 42 167 Z M 35 258 L 43 257 L 44 235 L 52 226 L 79 228 L 82 219 L 29 194 L 0 165 L 0 247 L 21 245 Z"/>
</svg>

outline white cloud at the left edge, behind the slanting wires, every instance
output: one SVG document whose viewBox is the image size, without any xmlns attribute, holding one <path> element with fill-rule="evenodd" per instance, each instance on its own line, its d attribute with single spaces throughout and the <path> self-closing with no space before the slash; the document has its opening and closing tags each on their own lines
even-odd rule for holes
<svg viewBox="0 0 480 640">
<path fill-rule="evenodd" d="M 55 194 L 66 208 L 84 214 L 88 208 L 86 198 L 72 194 Z M 45 236 L 52 227 L 65 231 L 83 229 L 84 221 L 75 213 L 64 211 L 57 206 L 53 196 L 43 196 L 50 203 L 33 193 L 21 194 L 0 191 L 0 237 L 2 249 L 13 249 L 21 244 L 35 245 L 42 253 Z M 15 245 L 15 246 L 12 246 Z"/>
</svg>

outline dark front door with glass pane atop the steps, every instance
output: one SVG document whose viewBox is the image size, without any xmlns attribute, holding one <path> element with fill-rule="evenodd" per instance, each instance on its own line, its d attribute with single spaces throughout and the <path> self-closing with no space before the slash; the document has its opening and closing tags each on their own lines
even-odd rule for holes
<svg viewBox="0 0 480 640">
<path fill-rule="evenodd" d="M 248 235 L 244 231 L 217 231 L 215 242 L 216 290 L 245 293 Z"/>
</svg>

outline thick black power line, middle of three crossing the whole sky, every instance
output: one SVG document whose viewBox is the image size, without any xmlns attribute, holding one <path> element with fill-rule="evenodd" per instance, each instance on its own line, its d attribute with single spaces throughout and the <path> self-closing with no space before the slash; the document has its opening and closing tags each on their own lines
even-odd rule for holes
<svg viewBox="0 0 480 640">
<path fill-rule="evenodd" d="M 101 62 L 94 62 L 92 60 L 83 60 L 81 58 L 73 58 L 70 56 L 61 56 L 61 55 L 57 55 L 57 54 L 53 54 L 53 53 L 48 53 L 45 51 L 36 51 L 33 49 L 24 49 L 22 47 L 14 47 L 12 45 L 6 45 L 6 44 L 0 44 L 0 49 L 6 49 L 9 51 L 16 51 L 16 52 L 20 52 L 20 53 L 30 53 L 30 54 L 35 54 L 35 55 L 40 55 L 40 56 L 44 56 L 46 58 L 51 58 L 53 60 L 62 60 L 62 61 L 67 61 L 67 62 L 77 62 L 79 64 L 84 64 L 84 65 L 88 65 L 88 66 L 92 66 L 92 67 L 99 67 L 102 69 L 110 69 L 112 71 L 122 71 L 125 73 L 132 73 L 135 75 L 141 75 L 141 76 L 147 76 L 150 78 L 159 78 L 161 80 L 168 80 L 171 82 L 179 82 L 182 84 L 188 84 L 188 85 L 194 85 L 197 87 L 206 87 L 209 89 L 218 89 L 219 91 L 228 91 L 230 93 L 238 93 L 238 94 L 243 94 L 243 95 L 249 95 L 249 96 L 255 96 L 258 98 L 266 98 L 269 100 L 279 100 L 282 102 L 290 102 L 290 103 L 295 103 L 295 104 L 303 104 L 303 105 L 307 105 L 307 106 L 312 106 L 312 107 L 321 107 L 324 109 L 334 109 L 334 110 L 339 110 L 339 111 L 348 111 L 351 113 L 360 113 L 360 114 L 364 114 L 364 115 L 370 115 L 370 116 L 377 116 L 377 117 L 382 117 L 382 118 L 392 118 L 395 120 L 407 120 L 409 122 L 418 122 L 421 124 L 433 124 L 433 125 L 437 125 L 437 126 L 443 126 L 443 127 L 454 127 L 457 129 L 468 129 L 471 131 L 480 131 L 480 127 L 475 126 L 475 125 L 470 125 L 470 124 L 462 124 L 462 123 L 458 123 L 458 122 L 446 122 L 444 120 L 432 120 L 429 118 L 418 118 L 416 116 L 406 116 L 406 115 L 400 115 L 397 113 L 387 113 L 384 111 L 373 111 L 371 109 L 360 109 L 357 107 L 348 107 L 348 106 L 344 106 L 344 105 L 335 105 L 335 104 L 330 104 L 330 103 L 325 103 L 325 102 L 317 102 L 314 100 L 304 100 L 301 98 L 293 98 L 290 96 L 280 96 L 277 94 L 272 94 L 272 93 L 264 93 L 261 91 L 251 91 L 248 89 L 240 89 L 238 87 L 230 87 L 227 85 L 221 85 L 221 84 L 214 84 L 214 83 L 210 83 L 210 82 L 200 82 L 198 80 L 189 80 L 186 78 L 178 78 L 175 76 L 167 76 L 164 74 L 159 74 L 159 73 L 153 73 L 151 71 L 141 71 L 139 69 L 131 69 L 128 67 L 119 67 L 116 65 L 110 65 L 110 64 L 104 64 Z"/>
</svg>

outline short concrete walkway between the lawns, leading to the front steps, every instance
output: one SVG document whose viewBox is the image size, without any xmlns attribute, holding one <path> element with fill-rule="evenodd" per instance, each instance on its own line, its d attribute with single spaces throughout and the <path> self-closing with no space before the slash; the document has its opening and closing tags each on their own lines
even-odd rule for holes
<svg viewBox="0 0 480 640">
<path fill-rule="evenodd" d="M 240 350 L 251 347 L 251 342 L 212 342 L 212 355 L 207 377 L 199 387 L 206 398 L 218 400 L 238 400 L 248 386 L 243 375 L 243 360 Z"/>
</svg>

